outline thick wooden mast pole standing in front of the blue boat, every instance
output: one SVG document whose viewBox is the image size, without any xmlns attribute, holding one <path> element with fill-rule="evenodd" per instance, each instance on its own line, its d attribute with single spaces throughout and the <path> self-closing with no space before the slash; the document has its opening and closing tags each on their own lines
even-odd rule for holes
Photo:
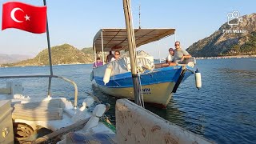
<svg viewBox="0 0 256 144">
<path fill-rule="evenodd" d="M 126 32 L 127 32 L 127 40 L 130 54 L 130 66 L 132 79 L 134 84 L 134 102 L 138 106 L 142 106 L 141 103 L 141 93 L 140 93 L 140 83 L 138 82 L 138 74 L 137 67 L 134 58 L 134 50 L 136 48 L 135 38 L 134 38 L 134 28 L 132 23 L 132 14 L 130 12 L 130 0 L 123 0 L 123 10 L 126 18 Z"/>
</svg>

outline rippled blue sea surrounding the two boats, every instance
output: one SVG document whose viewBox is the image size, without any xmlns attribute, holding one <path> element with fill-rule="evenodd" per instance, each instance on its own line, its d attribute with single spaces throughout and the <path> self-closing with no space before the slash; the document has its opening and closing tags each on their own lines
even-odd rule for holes
<svg viewBox="0 0 256 144">
<path fill-rule="evenodd" d="M 107 113 L 114 121 L 115 98 L 102 94 L 90 82 L 92 65 L 54 66 L 54 74 L 74 80 L 78 85 L 78 104 L 88 94 L 111 104 Z M 218 143 L 256 143 L 256 58 L 198 60 L 202 73 L 202 89 L 197 90 L 194 76 L 186 79 L 170 100 L 166 110 L 146 108 L 178 126 Z M 49 74 L 48 66 L 0 68 L 0 75 Z M 23 82 L 24 94 L 46 97 L 48 78 L 0 79 Z M 74 100 L 74 87 L 53 79 L 52 95 Z"/>
</svg>

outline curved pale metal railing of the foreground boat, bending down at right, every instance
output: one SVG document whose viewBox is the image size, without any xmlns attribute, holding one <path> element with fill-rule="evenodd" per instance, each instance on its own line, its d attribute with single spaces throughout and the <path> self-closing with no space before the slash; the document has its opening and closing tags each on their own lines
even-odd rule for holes
<svg viewBox="0 0 256 144">
<path fill-rule="evenodd" d="M 14 75 L 14 76 L 0 76 L 0 78 L 60 78 L 66 82 L 70 82 L 74 86 L 74 109 L 76 109 L 78 106 L 78 86 L 74 81 L 68 78 L 64 78 L 58 75 Z"/>
</svg>

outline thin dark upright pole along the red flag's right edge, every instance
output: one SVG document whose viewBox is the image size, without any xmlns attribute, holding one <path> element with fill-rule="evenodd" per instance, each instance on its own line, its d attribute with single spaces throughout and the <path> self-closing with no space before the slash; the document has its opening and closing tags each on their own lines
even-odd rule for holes
<svg viewBox="0 0 256 144">
<path fill-rule="evenodd" d="M 46 6 L 46 0 L 43 0 L 43 5 Z M 46 13 L 46 35 L 47 35 L 48 55 L 49 55 L 49 65 L 50 65 L 50 77 L 49 77 L 49 85 L 48 85 L 48 97 L 50 97 L 51 78 L 54 75 L 54 72 L 53 72 L 53 66 L 52 66 L 52 63 L 51 63 L 50 36 L 49 36 L 47 13 Z"/>
</svg>

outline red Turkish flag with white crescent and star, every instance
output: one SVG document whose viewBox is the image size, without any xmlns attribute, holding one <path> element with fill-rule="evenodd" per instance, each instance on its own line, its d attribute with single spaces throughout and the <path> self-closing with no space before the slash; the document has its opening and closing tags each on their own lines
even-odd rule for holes
<svg viewBox="0 0 256 144">
<path fill-rule="evenodd" d="M 46 6 L 32 6 L 22 2 L 2 4 L 2 30 L 16 28 L 31 33 L 46 32 Z"/>
</svg>

